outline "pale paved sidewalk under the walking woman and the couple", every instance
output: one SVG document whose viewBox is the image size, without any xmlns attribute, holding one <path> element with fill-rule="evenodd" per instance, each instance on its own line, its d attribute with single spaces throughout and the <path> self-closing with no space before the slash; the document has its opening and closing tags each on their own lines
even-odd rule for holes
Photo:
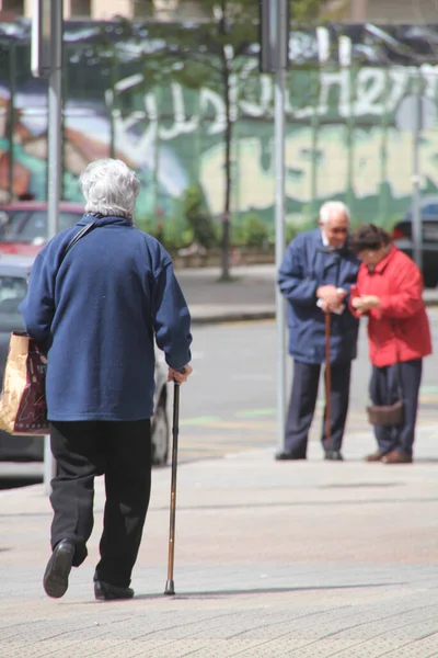
<svg viewBox="0 0 438 658">
<path fill-rule="evenodd" d="M 184 435 L 181 438 L 184 441 Z M 170 468 L 155 469 L 132 586 L 93 600 L 103 487 L 85 564 L 45 597 L 43 485 L 0 492 L 1 658 L 431 658 L 438 656 L 438 426 L 413 465 L 274 461 L 274 449 L 180 466 L 175 597 L 166 580 Z"/>
</svg>

